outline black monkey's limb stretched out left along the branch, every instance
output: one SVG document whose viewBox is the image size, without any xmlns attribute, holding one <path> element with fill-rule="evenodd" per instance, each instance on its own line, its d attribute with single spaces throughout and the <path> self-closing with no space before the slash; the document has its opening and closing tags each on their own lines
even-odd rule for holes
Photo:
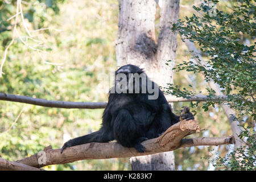
<svg viewBox="0 0 256 182">
<path fill-rule="evenodd" d="M 111 135 L 109 133 L 104 133 L 104 131 L 101 129 L 91 134 L 69 140 L 63 145 L 63 147 L 60 150 L 60 153 L 62 154 L 63 150 L 67 147 L 78 146 L 79 144 L 85 144 L 90 142 L 106 143 L 109 142 L 110 140 L 113 140 Z"/>
</svg>

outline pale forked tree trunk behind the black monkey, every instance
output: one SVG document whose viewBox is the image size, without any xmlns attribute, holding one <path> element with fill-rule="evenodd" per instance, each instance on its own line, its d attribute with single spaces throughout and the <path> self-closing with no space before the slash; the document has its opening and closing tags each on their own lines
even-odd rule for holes
<svg viewBox="0 0 256 182">
<path fill-rule="evenodd" d="M 156 43 L 154 0 L 119 0 L 119 23 L 116 43 L 117 66 L 134 64 L 143 68 L 159 86 L 173 83 L 176 34 L 171 23 L 179 18 L 179 0 L 159 1 L 160 30 Z M 166 60 L 172 60 L 167 66 Z M 175 170 L 174 153 L 133 157 L 133 170 Z"/>
</svg>

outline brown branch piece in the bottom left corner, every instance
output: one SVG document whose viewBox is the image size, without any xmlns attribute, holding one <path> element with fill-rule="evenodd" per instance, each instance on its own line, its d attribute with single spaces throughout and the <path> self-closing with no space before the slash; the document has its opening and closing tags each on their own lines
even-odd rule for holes
<svg viewBox="0 0 256 182">
<path fill-rule="evenodd" d="M 43 169 L 0 158 L 0 171 L 42 171 Z"/>
</svg>

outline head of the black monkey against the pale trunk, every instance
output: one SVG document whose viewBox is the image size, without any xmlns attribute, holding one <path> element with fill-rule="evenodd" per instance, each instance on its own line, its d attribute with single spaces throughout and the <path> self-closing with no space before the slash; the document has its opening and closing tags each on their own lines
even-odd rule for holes
<svg viewBox="0 0 256 182">
<path fill-rule="evenodd" d="M 115 71 L 115 89 L 117 93 L 138 93 L 143 85 L 146 88 L 146 78 L 143 69 L 132 64 L 124 65 Z"/>
</svg>

